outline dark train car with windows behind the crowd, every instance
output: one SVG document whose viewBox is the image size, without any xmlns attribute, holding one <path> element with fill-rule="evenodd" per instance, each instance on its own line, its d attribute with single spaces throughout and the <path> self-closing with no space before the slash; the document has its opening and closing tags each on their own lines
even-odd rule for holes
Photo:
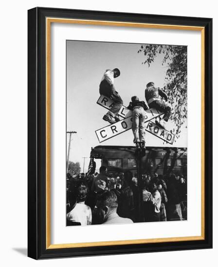
<svg viewBox="0 0 218 267">
<path fill-rule="evenodd" d="M 91 149 L 91 158 L 101 159 L 108 173 L 130 170 L 137 172 L 137 159 L 133 146 L 97 146 Z M 184 175 L 187 177 L 187 148 L 146 147 L 142 158 L 142 173 Z"/>
</svg>

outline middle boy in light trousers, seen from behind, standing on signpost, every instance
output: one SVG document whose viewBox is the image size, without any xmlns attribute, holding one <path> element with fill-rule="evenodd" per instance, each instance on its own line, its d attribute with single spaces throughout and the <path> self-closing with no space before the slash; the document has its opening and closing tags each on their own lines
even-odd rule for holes
<svg viewBox="0 0 218 267">
<path fill-rule="evenodd" d="M 134 135 L 134 143 L 136 148 L 145 149 L 145 110 L 147 106 L 145 101 L 140 101 L 137 96 L 131 98 L 128 109 L 132 110 L 132 132 Z"/>
</svg>

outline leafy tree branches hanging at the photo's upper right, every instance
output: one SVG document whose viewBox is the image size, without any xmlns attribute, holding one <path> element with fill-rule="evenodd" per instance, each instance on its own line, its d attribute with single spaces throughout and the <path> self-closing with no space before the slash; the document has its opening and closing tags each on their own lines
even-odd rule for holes
<svg viewBox="0 0 218 267">
<path fill-rule="evenodd" d="M 179 138 L 181 126 L 187 118 L 187 47 L 169 45 L 142 45 L 138 53 L 144 53 L 142 63 L 150 67 L 157 54 L 163 54 L 162 65 L 166 65 L 164 91 L 174 108 L 170 119 L 174 121 L 172 130 Z"/>
</svg>

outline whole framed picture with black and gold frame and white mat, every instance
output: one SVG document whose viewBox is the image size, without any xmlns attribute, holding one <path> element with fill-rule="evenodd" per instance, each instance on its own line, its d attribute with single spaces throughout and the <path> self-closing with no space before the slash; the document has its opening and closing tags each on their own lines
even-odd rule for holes
<svg viewBox="0 0 218 267">
<path fill-rule="evenodd" d="M 212 248 L 212 19 L 28 11 L 28 256 Z"/>
</svg>

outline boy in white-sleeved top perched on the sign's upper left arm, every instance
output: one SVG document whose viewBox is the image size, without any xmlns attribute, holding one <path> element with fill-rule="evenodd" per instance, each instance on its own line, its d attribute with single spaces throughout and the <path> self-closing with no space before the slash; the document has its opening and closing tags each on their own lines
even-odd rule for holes
<svg viewBox="0 0 218 267">
<path fill-rule="evenodd" d="M 109 97 L 114 102 L 109 112 L 106 113 L 105 116 L 103 117 L 104 120 L 108 121 L 111 124 L 120 120 L 119 117 L 117 116 L 117 113 L 119 112 L 119 110 L 123 105 L 123 100 L 121 99 L 120 95 L 118 94 L 118 92 L 115 90 L 114 87 L 114 78 L 117 78 L 119 76 L 120 76 L 120 70 L 118 68 L 114 68 L 113 70 L 107 69 L 99 85 L 100 95 Z"/>
</svg>

